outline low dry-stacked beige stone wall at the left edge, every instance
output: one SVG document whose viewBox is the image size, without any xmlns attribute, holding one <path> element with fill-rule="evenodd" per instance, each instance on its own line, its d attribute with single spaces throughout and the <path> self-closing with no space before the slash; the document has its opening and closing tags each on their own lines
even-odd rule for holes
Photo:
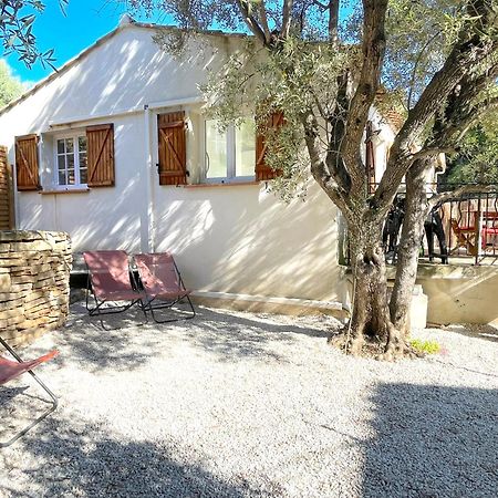
<svg viewBox="0 0 498 498">
<path fill-rule="evenodd" d="M 68 317 L 71 240 L 53 231 L 0 231 L 0 333 L 12 345 Z"/>
</svg>

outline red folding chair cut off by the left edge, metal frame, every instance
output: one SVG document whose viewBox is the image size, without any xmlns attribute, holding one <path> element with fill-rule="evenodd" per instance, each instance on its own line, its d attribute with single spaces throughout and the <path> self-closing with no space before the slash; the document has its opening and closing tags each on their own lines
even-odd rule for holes
<svg viewBox="0 0 498 498">
<path fill-rule="evenodd" d="M 51 351 L 43 356 L 40 356 L 35 360 L 31 360 L 29 362 L 23 362 L 18 353 L 0 336 L 0 344 L 15 359 L 15 361 L 7 360 L 3 356 L 0 356 L 0 385 L 6 384 L 12 378 L 22 375 L 24 372 L 28 372 L 37 383 L 42 387 L 42 390 L 51 397 L 51 406 L 42 415 L 40 415 L 35 421 L 24 427 L 22 430 L 17 433 L 13 437 L 11 437 L 7 442 L 0 442 L 0 448 L 4 448 L 10 446 L 12 443 L 15 443 L 20 437 L 22 437 L 28 430 L 32 429 L 35 425 L 38 425 L 43 418 L 50 415 L 58 407 L 58 398 L 52 393 L 52 391 L 46 387 L 46 385 L 41 381 L 41 378 L 33 372 L 33 369 L 40 365 L 43 362 L 48 362 L 52 360 L 54 356 L 59 354 L 59 351 Z"/>
</svg>

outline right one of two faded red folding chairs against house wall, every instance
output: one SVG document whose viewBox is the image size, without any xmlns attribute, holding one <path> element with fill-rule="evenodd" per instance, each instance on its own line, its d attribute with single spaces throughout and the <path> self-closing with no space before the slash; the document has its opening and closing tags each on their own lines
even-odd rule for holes
<svg viewBox="0 0 498 498">
<path fill-rule="evenodd" d="M 145 309 L 151 311 L 155 322 L 176 322 L 178 320 L 189 320 L 196 315 L 189 297 L 191 291 L 185 287 L 178 267 L 169 252 L 136 255 L 134 259 L 142 286 L 147 295 Z M 187 300 L 190 307 L 187 315 L 176 315 L 176 318 L 159 320 L 154 314 L 155 310 L 170 309 L 184 299 Z"/>
</svg>

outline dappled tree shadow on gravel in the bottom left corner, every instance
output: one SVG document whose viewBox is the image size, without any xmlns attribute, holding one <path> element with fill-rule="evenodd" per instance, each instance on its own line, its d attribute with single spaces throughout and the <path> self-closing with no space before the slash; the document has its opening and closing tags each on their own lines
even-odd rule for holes
<svg viewBox="0 0 498 498">
<path fill-rule="evenodd" d="M 68 430 L 68 425 L 74 427 Z M 2 497 L 266 497 L 243 478 L 229 484 L 201 465 L 201 457 L 177 443 L 120 442 L 102 429 L 55 423 L 41 436 L 25 436 L 18 445 L 30 465 L 15 470 L 17 485 L 0 473 Z M 14 447 L 0 453 L 1 468 L 12 469 Z M 15 460 L 14 460 L 15 461 Z"/>
</svg>

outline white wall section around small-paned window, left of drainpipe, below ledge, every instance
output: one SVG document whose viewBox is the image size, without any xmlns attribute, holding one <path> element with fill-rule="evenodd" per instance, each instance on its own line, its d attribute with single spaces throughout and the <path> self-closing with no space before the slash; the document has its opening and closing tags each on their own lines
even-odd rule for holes
<svg viewBox="0 0 498 498">
<path fill-rule="evenodd" d="M 143 201 L 146 198 L 144 122 L 136 115 L 112 121 L 115 187 L 68 194 L 17 193 L 18 228 L 41 230 L 50 227 L 51 230 L 68 231 L 74 251 L 116 247 L 129 251 L 141 249 L 141 242 L 147 239 L 147 206 Z M 132 129 L 136 144 L 129 139 Z M 46 137 L 43 139 L 50 142 Z M 53 162 L 52 146 L 46 156 L 43 164 Z M 44 170 L 43 179 L 46 181 L 52 175 L 52 170 Z"/>
</svg>

